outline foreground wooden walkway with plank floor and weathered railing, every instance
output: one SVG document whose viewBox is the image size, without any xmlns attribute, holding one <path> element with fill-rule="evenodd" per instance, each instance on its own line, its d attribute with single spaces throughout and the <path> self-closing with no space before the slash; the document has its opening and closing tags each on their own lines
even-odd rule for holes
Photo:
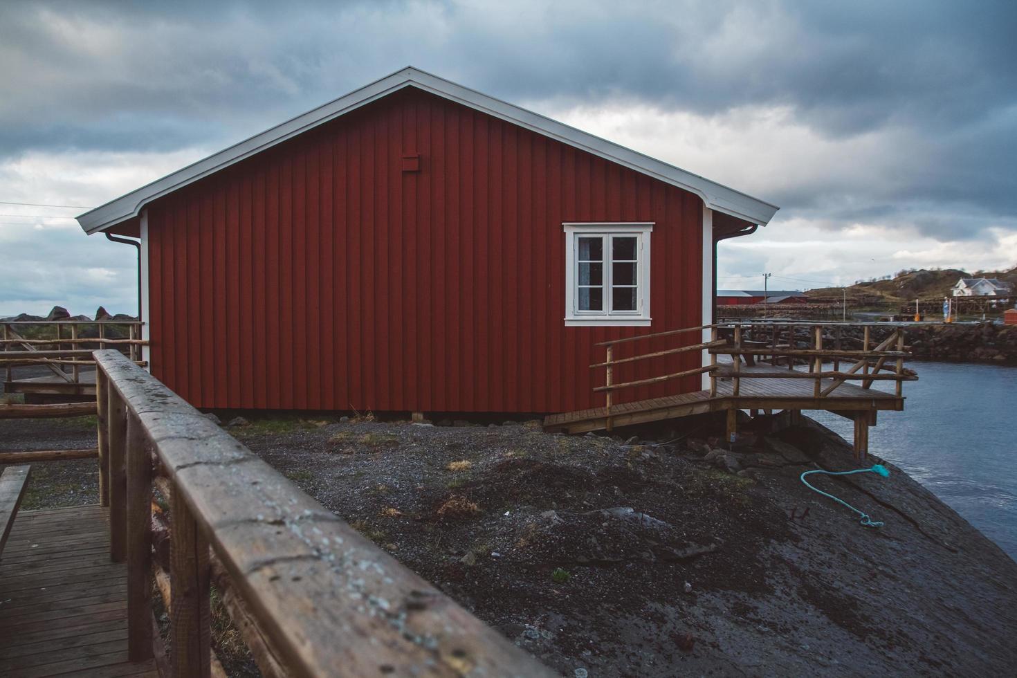
<svg viewBox="0 0 1017 678">
<path fill-rule="evenodd" d="M 267 678 L 557 675 L 123 354 L 95 362 L 102 505 L 14 517 L 0 675 L 225 676 L 213 585 Z M 15 469 L 2 522 L 28 480 Z"/>
</svg>

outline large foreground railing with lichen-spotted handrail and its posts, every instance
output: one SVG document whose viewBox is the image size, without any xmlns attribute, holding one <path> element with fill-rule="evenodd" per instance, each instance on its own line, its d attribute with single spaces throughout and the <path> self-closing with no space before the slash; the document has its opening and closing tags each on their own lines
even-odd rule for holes
<svg viewBox="0 0 1017 678">
<path fill-rule="evenodd" d="M 266 676 L 555 675 L 121 353 L 95 359 L 101 475 L 111 553 L 127 561 L 132 660 L 161 661 L 155 579 L 174 676 L 221 671 L 208 628 L 213 583 Z M 154 490 L 168 511 L 154 511 Z"/>
</svg>

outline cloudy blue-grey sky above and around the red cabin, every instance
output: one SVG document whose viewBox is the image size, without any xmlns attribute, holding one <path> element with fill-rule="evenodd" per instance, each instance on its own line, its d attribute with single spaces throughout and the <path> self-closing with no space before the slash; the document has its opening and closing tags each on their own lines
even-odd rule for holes
<svg viewBox="0 0 1017 678">
<path fill-rule="evenodd" d="M 0 316 L 133 311 L 133 250 L 62 217 L 408 64 L 779 204 L 722 288 L 1010 267 L 1015 35 L 1012 0 L 5 0 Z"/>
</svg>

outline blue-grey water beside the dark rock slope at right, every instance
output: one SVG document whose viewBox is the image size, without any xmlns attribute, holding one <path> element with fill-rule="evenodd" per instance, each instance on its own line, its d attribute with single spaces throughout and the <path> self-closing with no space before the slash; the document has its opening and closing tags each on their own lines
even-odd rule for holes
<svg viewBox="0 0 1017 678">
<path fill-rule="evenodd" d="M 1017 367 L 912 362 L 904 412 L 881 412 L 869 449 L 900 467 L 1017 560 Z M 892 390 L 890 381 L 874 387 Z M 850 441 L 853 425 L 810 417 Z"/>
</svg>

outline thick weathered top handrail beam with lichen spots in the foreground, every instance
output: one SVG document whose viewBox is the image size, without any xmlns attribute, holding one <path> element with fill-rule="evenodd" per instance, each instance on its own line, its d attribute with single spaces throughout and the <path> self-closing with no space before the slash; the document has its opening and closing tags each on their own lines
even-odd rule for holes
<svg viewBox="0 0 1017 678">
<path fill-rule="evenodd" d="M 293 675 L 557 675 L 125 357 L 96 356 Z"/>
</svg>

